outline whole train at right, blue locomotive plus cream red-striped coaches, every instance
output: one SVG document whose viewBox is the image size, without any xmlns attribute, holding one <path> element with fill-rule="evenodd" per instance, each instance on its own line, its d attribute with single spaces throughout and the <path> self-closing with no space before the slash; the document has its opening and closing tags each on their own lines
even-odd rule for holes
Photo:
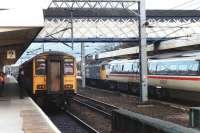
<svg viewBox="0 0 200 133">
<path fill-rule="evenodd" d="M 200 57 L 149 59 L 149 95 L 200 101 Z M 89 63 L 86 84 L 139 94 L 139 60 Z"/>
</svg>

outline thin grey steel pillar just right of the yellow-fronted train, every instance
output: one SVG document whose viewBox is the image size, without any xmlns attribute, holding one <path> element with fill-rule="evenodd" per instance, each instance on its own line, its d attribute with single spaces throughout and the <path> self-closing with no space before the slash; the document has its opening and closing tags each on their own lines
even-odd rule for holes
<svg viewBox="0 0 200 133">
<path fill-rule="evenodd" d="M 82 88 L 85 88 L 85 46 L 83 42 L 81 42 L 81 73 Z"/>
</svg>

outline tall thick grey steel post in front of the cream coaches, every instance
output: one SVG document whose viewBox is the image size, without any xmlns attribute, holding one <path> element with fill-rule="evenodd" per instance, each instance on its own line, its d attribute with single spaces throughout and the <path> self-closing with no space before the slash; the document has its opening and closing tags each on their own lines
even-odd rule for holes
<svg viewBox="0 0 200 133">
<path fill-rule="evenodd" d="M 148 101 L 148 84 L 147 84 L 147 52 L 146 52 L 146 10 L 145 0 L 138 2 L 139 11 L 139 51 L 140 51 L 140 103 Z"/>
</svg>

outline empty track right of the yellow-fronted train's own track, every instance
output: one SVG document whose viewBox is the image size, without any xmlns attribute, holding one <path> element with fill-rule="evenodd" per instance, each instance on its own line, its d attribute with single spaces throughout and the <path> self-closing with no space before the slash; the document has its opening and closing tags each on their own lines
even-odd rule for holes
<svg viewBox="0 0 200 133">
<path fill-rule="evenodd" d="M 112 110 L 117 109 L 118 107 L 113 106 L 111 104 L 104 103 L 102 101 L 98 101 L 80 94 L 77 94 L 73 101 L 85 106 L 91 110 L 94 110 L 105 117 L 111 119 L 112 118 Z"/>
</svg>

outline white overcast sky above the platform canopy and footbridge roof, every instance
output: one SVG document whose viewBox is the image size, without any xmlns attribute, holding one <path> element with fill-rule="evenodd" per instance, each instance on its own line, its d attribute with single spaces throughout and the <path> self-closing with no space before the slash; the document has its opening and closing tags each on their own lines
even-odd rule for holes
<svg viewBox="0 0 200 133">
<path fill-rule="evenodd" d="M 0 0 L 0 8 L 47 8 L 50 2 L 51 0 Z M 171 9 L 174 7 L 176 9 L 200 8 L 200 0 L 146 0 L 147 9 Z"/>
</svg>

